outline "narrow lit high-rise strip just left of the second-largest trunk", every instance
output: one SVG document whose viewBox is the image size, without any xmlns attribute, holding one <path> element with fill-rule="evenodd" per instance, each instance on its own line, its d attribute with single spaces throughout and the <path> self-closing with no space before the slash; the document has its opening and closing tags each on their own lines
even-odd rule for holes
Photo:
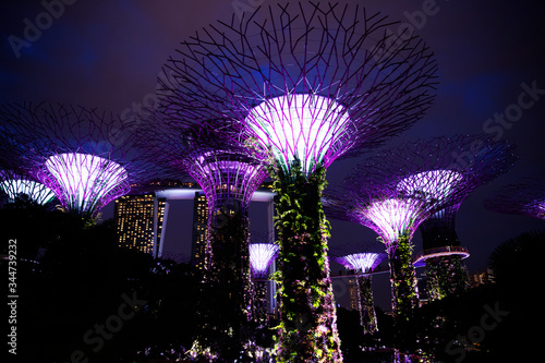
<svg viewBox="0 0 545 363">
<path fill-rule="evenodd" d="M 193 232 L 191 235 L 191 264 L 198 269 L 205 267 L 206 233 L 208 229 L 208 204 L 203 192 L 195 192 L 193 199 Z"/>
</svg>

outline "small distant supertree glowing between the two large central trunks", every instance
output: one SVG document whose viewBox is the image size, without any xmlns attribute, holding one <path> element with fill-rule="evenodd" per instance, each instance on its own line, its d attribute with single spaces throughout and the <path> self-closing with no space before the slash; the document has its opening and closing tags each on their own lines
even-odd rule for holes
<svg viewBox="0 0 545 363">
<path fill-rule="evenodd" d="M 254 311 L 255 318 L 264 324 L 267 320 L 267 270 L 278 256 L 278 245 L 272 243 L 251 243 L 250 264 L 254 278 Z"/>
</svg>

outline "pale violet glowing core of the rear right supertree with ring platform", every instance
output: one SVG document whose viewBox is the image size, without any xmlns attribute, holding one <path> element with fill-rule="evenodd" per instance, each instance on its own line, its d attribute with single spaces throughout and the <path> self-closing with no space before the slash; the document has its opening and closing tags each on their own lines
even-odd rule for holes
<svg viewBox="0 0 545 363">
<path fill-rule="evenodd" d="M 403 179 L 398 190 L 410 195 L 423 194 L 426 199 L 443 201 L 450 196 L 462 179 L 461 173 L 448 169 L 423 171 Z"/>
</svg>

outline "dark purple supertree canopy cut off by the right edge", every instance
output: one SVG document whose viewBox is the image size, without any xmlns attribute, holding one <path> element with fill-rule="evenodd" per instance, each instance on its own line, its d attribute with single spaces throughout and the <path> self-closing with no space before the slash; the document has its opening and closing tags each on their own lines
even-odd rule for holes
<svg viewBox="0 0 545 363">
<path fill-rule="evenodd" d="M 484 205 L 494 211 L 545 219 L 545 172 L 499 187 Z"/>
</svg>

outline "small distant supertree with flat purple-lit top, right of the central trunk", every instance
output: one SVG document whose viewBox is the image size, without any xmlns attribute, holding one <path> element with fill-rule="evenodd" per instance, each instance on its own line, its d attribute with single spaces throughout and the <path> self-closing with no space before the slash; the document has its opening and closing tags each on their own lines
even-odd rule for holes
<svg viewBox="0 0 545 363">
<path fill-rule="evenodd" d="M 347 269 L 354 270 L 358 287 L 358 306 L 360 310 L 360 324 L 364 334 L 374 334 L 378 330 L 373 300 L 371 273 L 380 265 L 387 255 L 374 245 L 364 242 L 336 249 L 332 252 L 334 259 Z"/>
</svg>

